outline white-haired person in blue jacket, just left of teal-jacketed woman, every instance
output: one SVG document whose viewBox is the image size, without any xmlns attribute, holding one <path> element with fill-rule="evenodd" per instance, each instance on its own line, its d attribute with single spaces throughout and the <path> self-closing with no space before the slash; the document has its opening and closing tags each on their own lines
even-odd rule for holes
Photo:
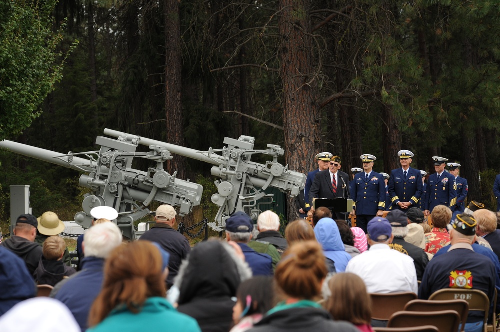
<svg viewBox="0 0 500 332">
<path fill-rule="evenodd" d="M 114 223 L 90 227 L 83 239 L 82 269 L 54 287 L 51 297 L 64 303 L 78 322 L 87 329 L 90 307 L 99 294 L 104 279 L 104 260 L 122 242 L 121 231 Z"/>
</svg>

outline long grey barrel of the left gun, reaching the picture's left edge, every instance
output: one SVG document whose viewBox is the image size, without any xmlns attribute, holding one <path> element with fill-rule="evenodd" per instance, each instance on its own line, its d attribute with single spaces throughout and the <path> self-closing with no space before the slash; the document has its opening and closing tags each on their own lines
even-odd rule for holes
<svg viewBox="0 0 500 332">
<path fill-rule="evenodd" d="M 45 150 L 42 148 L 37 148 L 34 146 L 22 144 L 22 143 L 17 143 L 17 142 L 12 142 L 9 140 L 3 140 L 0 142 L 0 147 L 5 148 L 9 151 L 21 154 L 23 156 L 35 158 L 38 160 L 46 161 L 52 164 L 64 166 L 67 168 L 71 168 L 77 171 L 86 171 L 86 172 L 92 172 L 95 170 L 95 168 L 90 167 L 90 160 L 76 157 L 76 156 L 71 156 L 72 162 L 69 163 L 68 161 L 68 156 L 51 151 L 51 150 Z"/>
</svg>

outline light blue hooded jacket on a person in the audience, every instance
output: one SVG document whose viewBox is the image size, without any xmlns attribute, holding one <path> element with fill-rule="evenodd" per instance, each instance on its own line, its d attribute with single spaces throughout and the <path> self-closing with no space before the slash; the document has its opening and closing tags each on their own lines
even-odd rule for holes
<svg viewBox="0 0 500 332">
<path fill-rule="evenodd" d="M 344 272 L 351 256 L 345 251 L 337 223 L 331 218 L 321 218 L 314 227 L 317 242 L 323 247 L 323 254 L 335 262 L 337 272 Z"/>
</svg>

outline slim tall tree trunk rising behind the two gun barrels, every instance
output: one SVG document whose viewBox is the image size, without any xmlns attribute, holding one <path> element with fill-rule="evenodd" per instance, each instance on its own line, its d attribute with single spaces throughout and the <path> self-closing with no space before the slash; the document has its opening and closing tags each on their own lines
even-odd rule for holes
<svg viewBox="0 0 500 332">
<path fill-rule="evenodd" d="M 168 143 L 185 146 L 179 5 L 177 0 L 166 0 L 164 6 L 166 137 Z M 173 155 L 173 159 L 167 163 L 167 171 L 177 171 L 177 177 L 184 179 L 185 158 Z"/>
</svg>

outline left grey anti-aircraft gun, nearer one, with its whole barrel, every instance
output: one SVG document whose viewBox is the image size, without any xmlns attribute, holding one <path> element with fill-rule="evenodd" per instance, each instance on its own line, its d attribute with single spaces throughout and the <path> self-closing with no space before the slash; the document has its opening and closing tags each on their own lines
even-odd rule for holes
<svg viewBox="0 0 500 332">
<path fill-rule="evenodd" d="M 178 207 L 184 216 L 199 205 L 203 187 L 189 180 L 176 178 L 163 169 L 163 162 L 172 159 L 170 152 L 157 145 L 150 145 L 149 152 L 135 152 L 140 137 L 126 135 L 118 139 L 97 137 L 99 151 L 62 154 L 12 141 L 1 141 L 0 147 L 28 157 L 68 167 L 83 173 L 80 186 L 89 188 L 83 199 L 83 211 L 74 220 L 83 228 L 91 226 L 90 210 L 107 205 L 118 211 L 117 224 L 123 235 L 135 239 L 133 222 L 147 216 L 147 208 L 154 200 Z M 84 157 L 84 158 L 83 158 Z M 133 158 L 140 157 L 156 162 L 147 172 L 133 169 Z"/>
</svg>

